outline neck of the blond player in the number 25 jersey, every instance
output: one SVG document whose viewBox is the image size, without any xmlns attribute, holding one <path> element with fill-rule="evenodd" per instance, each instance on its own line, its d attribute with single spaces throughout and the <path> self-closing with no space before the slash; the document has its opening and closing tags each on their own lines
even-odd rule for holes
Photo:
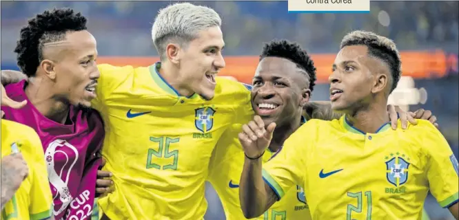
<svg viewBox="0 0 459 220">
<path fill-rule="evenodd" d="M 159 74 L 164 80 L 169 83 L 172 88 L 179 92 L 180 96 L 191 96 L 194 92 L 187 89 L 188 83 L 180 76 L 178 69 L 171 63 L 161 63 L 161 68 L 158 69 Z"/>
</svg>

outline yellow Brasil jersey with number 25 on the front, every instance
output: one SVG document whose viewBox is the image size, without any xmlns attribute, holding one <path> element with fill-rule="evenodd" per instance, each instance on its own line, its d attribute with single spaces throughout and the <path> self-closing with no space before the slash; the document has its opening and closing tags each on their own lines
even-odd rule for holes
<svg viewBox="0 0 459 220">
<path fill-rule="evenodd" d="M 212 100 L 179 96 L 159 65 L 99 65 L 92 104 L 105 122 L 102 155 L 114 181 L 114 192 L 99 198 L 99 208 L 112 220 L 203 219 L 216 142 L 253 115 L 243 84 L 217 78 Z"/>
</svg>

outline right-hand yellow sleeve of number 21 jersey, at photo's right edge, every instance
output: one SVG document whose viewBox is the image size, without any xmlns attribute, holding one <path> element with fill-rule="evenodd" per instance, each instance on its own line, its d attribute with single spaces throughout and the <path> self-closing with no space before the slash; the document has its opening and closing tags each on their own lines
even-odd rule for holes
<svg viewBox="0 0 459 220">
<path fill-rule="evenodd" d="M 420 124 L 418 124 L 419 126 Z M 433 197 L 443 208 L 458 202 L 458 160 L 445 137 L 430 122 L 422 122 L 422 142 L 428 151 L 427 179 Z"/>
</svg>

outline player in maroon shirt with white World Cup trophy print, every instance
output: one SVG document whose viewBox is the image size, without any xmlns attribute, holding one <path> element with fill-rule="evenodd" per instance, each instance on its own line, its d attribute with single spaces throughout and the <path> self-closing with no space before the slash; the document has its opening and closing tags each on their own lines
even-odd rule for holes
<svg viewBox="0 0 459 220">
<path fill-rule="evenodd" d="M 21 109 L 1 107 L 5 118 L 32 127 L 41 139 L 55 219 L 91 215 L 103 122 L 90 107 L 99 78 L 96 40 L 86 19 L 71 9 L 37 14 L 21 29 L 14 50 L 28 80 L 6 86 Z M 81 216 L 83 214 L 83 216 Z"/>
</svg>

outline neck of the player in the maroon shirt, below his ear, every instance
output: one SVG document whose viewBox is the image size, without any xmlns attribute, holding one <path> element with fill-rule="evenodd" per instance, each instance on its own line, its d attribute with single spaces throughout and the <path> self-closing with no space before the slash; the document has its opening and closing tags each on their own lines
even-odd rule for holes
<svg viewBox="0 0 459 220">
<path fill-rule="evenodd" d="M 65 124 L 70 111 L 70 104 L 55 98 L 52 93 L 52 84 L 43 78 L 29 78 L 28 85 L 25 89 L 26 96 L 31 104 L 46 118 Z"/>
</svg>

